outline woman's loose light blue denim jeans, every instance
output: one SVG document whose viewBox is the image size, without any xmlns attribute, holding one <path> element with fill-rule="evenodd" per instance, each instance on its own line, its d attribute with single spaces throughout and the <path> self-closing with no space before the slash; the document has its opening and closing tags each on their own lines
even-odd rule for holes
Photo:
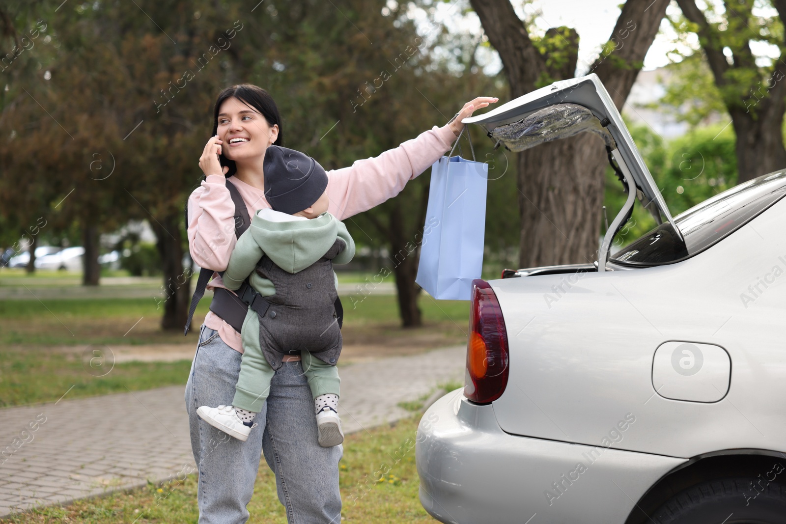
<svg viewBox="0 0 786 524">
<path fill-rule="evenodd" d="M 188 383 L 191 449 L 199 471 L 200 524 L 242 524 L 254 493 L 261 453 L 276 475 L 278 500 L 290 524 L 338 524 L 341 445 L 318 443 L 314 398 L 299 361 L 285 363 L 270 383 L 248 441 L 215 429 L 196 415 L 200 405 L 231 405 L 242 355 L 202 325 Z"/>
</svg>

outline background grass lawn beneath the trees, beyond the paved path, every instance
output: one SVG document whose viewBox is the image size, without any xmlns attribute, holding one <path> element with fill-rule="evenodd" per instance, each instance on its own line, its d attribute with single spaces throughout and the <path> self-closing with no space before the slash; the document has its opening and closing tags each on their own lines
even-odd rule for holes
<svg viewBox="0 0 786 524">
<path fill-rule="evenodd" d="M 342 301 L 347 355 L 357 347 L 377 354 L 398 348 L 402 354 L 466 340 L 468 302 L 438 302 L 423 294 L 424 326 L 403 329 L 395 295 L 347 295 Z M 111 363 L 101 368 L 94 361 L 91 368 L 90 359 L 101 355 L 94 349 L 108 353 L 106 348 L 119 346 L 196 348 L 208 306 L 208 299 L 200 302 L 196 325 L 184 337 L 160 328 L 162 309 L 151 298 L 0 300 L 0 407 L 57 401 L 72 386 L 68 398 L 185 384 L 189 361 L 126 362 L 104 375 Z"/>
</svg>

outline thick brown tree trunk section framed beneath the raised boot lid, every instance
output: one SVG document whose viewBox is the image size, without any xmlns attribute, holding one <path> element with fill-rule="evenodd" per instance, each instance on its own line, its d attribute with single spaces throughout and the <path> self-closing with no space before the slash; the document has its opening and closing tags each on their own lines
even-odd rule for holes
<svg viewBox="0 0 786 524">
<path fill-rule="evenodd" d="M 605 156 L 589 134 L 518 154 L 519 267 L 597 260 Z"/>
</svg>

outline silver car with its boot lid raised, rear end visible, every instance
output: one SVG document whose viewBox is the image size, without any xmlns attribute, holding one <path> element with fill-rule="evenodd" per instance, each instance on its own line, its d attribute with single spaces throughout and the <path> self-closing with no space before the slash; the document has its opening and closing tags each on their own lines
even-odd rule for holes
<svg viewBox="0 0 786 524">
<path fill-rule="evenodd" d="M 473 283 L 465 388 L 418 427 L 424 508 L 458 524 L 786 522 L 786 171 L 672 218 L 596 75 L 464 122 L 512 151 L 599 134 L 628 197 L 599 262 Z M 611 255 L 634 203 L 659 225 Z"/>
</svg>

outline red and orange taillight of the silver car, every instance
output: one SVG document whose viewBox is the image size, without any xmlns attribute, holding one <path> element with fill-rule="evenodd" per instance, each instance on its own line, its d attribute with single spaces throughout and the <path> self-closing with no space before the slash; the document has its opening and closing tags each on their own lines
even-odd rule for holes
<svg viewBox="0 0 786 524">
<path fill-rule="evenodd" d="M 464 396 L 479 404 L 500 398 L 508 385 L 508 335 L 502 310 L 486 280 L 472 280 Z"/>
</svg>

